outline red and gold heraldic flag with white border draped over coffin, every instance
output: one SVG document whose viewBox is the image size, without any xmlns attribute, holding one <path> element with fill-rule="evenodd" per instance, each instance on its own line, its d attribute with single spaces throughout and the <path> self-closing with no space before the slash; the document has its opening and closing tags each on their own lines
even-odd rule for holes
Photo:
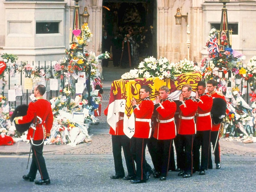
<svg viewBox="0 0 256 192">
<path fill-rule="evenodd" d="M 190 72 L 175 76 L 177 77 L 175 80 L 170 78 L 160 80 L 158 77 L 151 77 L 113 81 L 108 106 L 108 124 L 115 130 L 116 123 L 119 121 L 119 112 L 124 112 L 124 133 L 131 138 L 134 133 L 133 124 L 135 120 L 131 100 L 134 97 L 137 103 L 140 103 L 139 92 L 142 85 L 148 85 L 151 88 L 151 94 L 149 95 L 151 100 L 155 100 L 159 94 L 159 88 L 163 85 L 166 85 L 170 89 L 169 98 L 179 100 L 183 85 L 191 85 L 192 91 L 196 92 L 197 83 L 202 78 L 200 72 Z"/>
</svg>

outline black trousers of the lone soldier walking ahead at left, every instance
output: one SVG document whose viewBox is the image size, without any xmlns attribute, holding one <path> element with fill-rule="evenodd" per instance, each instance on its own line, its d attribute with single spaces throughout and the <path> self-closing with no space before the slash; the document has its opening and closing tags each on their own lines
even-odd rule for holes
<svg viewBox="0 0 256 192">
<path fill-rule="evenodd" d="M 36 145 L 39 145 L 42 143 L 43 140 L 34 140 L 33 143 Z M 30 141 L 31 143 L 31 141 Z M 43 148 L 44 148 L 44 142 L 39 145 L 32 145 L 32 162 L 30 165 L 30 170 L 28 173 L 28 176 L 30 176 L 32 179 L 36 179 L 36 173 L 37 170 L 39 171 L 41 175 L 41 179 L 49 179 L 49 175 L 46 169 L 45 160 L 43 157 Z"/>
</svg>

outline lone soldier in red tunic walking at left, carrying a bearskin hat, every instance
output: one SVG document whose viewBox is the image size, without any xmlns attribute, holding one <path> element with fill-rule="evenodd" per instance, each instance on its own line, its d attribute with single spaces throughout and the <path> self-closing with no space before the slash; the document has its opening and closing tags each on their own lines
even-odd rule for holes
<svg viewBox="0 0 256 192">
<path fill-rule="evenodd" d="M 53 115 L 51 104 L 48 100 L 44 100 L 43 95 L 45 93 L 44 85 L 37 85 L 34 88 L 34 96 L 36 100 L 32 101 L 28 105 L 27 115 L 23 117 L 15 117 L 15 124 L 25 124 L 33 120 L 35 121 L 39 118 L 42 119 L 42 122 L 36 124 L 36 130 L 32 127 L 28 129 L 27 139 L 30 140 L 32 145 L 32 162 L 30 165 L 30 170 L 27 175 L 23 175 L 24 180 L 34 181 L 36 179 L 37 170 L 41 175 L 41 179 L 35 181 L 35 184 L 50 184 L 50 178 L 46 169 L 45 160 L 43 157 L 43 147 L 44 140 L 49 138 L 51 135 L 51 129 L 53 124 Z M 33 132 L 34 138 L 33 138 Z M 31 139 L 32 138 L 32 139 Z"/>
</svg>

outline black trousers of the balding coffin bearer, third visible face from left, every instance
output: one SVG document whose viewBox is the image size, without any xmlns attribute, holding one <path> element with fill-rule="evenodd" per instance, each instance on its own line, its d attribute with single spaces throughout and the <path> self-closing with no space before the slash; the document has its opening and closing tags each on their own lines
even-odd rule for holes
<svg viewBox="0 0 256 192">
<path fill-rule="evenodd" d="M 192 175 L 193 167 L 193 141 L 195 134 L 192 135 L 177 135 L 177 161 L 179 161 L 180 169 Z"/>
</svg>

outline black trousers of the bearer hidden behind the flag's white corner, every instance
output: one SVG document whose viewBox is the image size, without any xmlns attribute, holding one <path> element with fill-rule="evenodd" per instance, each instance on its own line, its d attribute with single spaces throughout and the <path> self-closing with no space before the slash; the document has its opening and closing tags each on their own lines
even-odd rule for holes
<svg viewBox="0 0 256 192">
<path fill-rule="evenodd" d="M 131 140 L 126 135 L 112 135 L 112 150 L 116 175 L 124 177 L 122 147 L 128 176 L 135 176 L 135 164 L 130 151 Z"/>
</svg>

